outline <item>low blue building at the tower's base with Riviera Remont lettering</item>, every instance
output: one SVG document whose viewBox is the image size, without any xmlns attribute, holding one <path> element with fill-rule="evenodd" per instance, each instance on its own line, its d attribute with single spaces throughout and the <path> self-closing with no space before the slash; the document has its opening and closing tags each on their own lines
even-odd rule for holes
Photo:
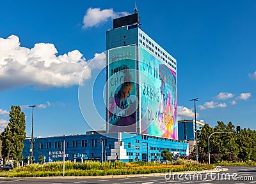
<svg viewBox="0 0 256 184">
<path fill-rule="evenodd" d="M 102 143 L 103 141 L 103 150 Z M 65 153 L 63 142 L 65 141 Z M 24 140 L 22 155 L 25 162 L 30 157 L 30 139 Z M 34 162 L 39 163 L 40 156 L 45 162 L 71 160 L 83 162 L 84 160 L 99 160 L 99 162 L 122 160 L 132 162 L 143 160 L 153 162 L 162 160 L 161 152 L 169 150 L 175 157 L 188 153 L 188 143 L 172 139 L 157 138 L 146 135 L 128 134 L 124 132 L 109 134 L 79 134 L 70 136 L 54 136 L 49 138 L 35 138 L 33 148 Z M 103 160 L 102 160 L 103 153 Z"/>
</svg>

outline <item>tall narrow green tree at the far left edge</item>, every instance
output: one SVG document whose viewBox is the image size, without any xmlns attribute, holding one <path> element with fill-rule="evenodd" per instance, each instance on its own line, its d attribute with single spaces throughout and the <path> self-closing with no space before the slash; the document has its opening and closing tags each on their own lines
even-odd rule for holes
<svg viewBox="0 0 256 184">
<path fill-rule="evenodd" d="M 8 126 L 4 129 L 0 137 L 2 140 L 1 153 L 4 160 L 8 159 L 10 153 L 13 156 L 13 160 L 18 161 L 21 158 L 20 156 L 24 148 L 23 141 L 26 138 L 25 114 L 21 112 L 20 106 L 12 106 L 9 117 Z"/>
</svg>

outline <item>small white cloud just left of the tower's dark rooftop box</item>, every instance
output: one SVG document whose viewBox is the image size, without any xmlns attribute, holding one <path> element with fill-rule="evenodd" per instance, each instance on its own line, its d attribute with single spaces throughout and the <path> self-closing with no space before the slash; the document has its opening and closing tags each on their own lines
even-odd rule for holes
<svg viewBox="0 0 256 184">
<path fill-rule="evenodd" d="M 113 8 L 104 10 L 100 10 L 100 8 L 88 8 L 83 19 L 83 29 L 93 26 L 97 27 L 100 24 L 107 22 L 109 19 L 114 19 L 125 15 L 129 15 L 129 13 L 125 11 L 115 12 Z"/>
</svg>

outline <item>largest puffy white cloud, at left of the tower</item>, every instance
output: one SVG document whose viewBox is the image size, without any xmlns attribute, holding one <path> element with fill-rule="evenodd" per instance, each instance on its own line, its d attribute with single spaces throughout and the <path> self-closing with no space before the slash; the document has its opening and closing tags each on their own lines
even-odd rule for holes
<svg viewBox="0 0 256 184">
<path fill-rule="evenodd" d="M 58 56 L 57 53 L 51 43 L 36 43 L 29 49 L 20 46 L 15 35 L 0 38 L 0 91 L 27 85 L 70 87 L 79 84 L 82 74 L 83 81 L 91 77 L 91 68 L 86 67 L 88 62 L 81 52 L 73 50 Z M 95 57 L 98 55 L 96 53 Z M 94 65 L 102 66 L 102 58 L 93 62 L 98 60 L 100 63 Z"/>
</svg>

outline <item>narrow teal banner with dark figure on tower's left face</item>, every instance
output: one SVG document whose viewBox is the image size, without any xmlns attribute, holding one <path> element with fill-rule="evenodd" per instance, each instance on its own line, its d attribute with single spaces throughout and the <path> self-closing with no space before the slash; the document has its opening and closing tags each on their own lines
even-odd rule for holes
<svg viewBox="0 0 256 184">
<path fill-rule="evenodd" d="M 136 45 L 108 50 L 108 132 L 136 132 Z"/>
</svg>

